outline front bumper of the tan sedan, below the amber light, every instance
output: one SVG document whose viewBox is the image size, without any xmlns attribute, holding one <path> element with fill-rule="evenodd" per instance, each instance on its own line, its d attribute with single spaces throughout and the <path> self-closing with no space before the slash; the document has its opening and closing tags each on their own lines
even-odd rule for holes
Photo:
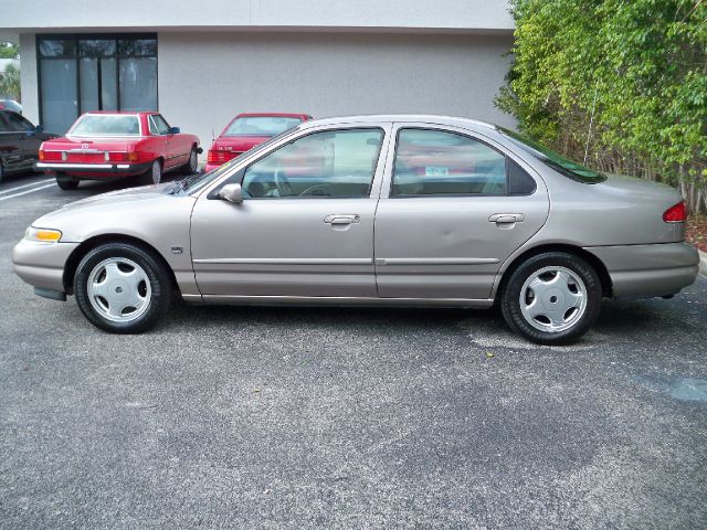
<svg viewBox="0 0 707 530">
<path fill-rule="evenodd" d="M 64 267 L 77 246 L 78 243 L 22 240 L 12 250 L 12 268 L 20 278 L 40 290 L 64 293 Z"/>
</svg>

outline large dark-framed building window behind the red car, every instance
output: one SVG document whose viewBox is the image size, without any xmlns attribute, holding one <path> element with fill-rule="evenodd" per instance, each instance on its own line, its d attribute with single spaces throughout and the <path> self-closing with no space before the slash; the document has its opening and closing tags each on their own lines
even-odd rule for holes
<svg viewBox="0 0 707 530">
<path fill-rule="evenodd" d="M 44 35 L 36 49 L 49 132 L 91 110 L 158 110 L 157 35 Z"/>
</svg>

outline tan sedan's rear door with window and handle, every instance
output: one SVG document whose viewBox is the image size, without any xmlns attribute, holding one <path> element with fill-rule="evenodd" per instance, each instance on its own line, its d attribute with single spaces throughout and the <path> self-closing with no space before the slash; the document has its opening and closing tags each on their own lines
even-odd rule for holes
<svg viewBox="0 0 707 530">
<path fill-rule="evenodd" d="M 539 177 L 493 139 L 395 124 L 376 214 L 378 293 L 488 299 L 500 265 L 545 224 Z"/>
</svg>

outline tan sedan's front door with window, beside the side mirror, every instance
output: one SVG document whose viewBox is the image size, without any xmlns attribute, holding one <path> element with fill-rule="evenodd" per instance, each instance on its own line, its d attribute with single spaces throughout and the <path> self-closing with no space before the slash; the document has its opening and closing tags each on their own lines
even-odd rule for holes
<svg viewBox="0 0 707 530">
<path fill-rule="evenodd" d="M 191 224 L 201 294 L 376 297 L 373 218 L 389 129 L 303 132 L 202 193 Z M 242 184 L 242 203 L 220 199 L 229 182 Z"/>
</svg>

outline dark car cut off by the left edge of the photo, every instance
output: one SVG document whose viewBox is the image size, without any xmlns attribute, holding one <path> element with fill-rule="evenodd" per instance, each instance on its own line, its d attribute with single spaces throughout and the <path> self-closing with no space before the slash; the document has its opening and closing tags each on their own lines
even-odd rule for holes
<svg viewBox="0 0 707 530">
<path fill-rule="evenodd" d="M 6 174 L 32 171 L 44 140 L 56 135 L 42 132 L 23 116 L 12 110 L 0 109 L 0 180 Z"/>
</svg>

